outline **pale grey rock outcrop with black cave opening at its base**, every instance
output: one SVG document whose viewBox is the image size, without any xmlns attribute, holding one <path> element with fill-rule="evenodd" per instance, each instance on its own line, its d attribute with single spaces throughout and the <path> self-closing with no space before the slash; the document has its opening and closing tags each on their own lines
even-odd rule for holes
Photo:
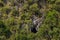
<svg viewBox="0 0 60 40">
<path fill-rule="evenodd" d="M 42 15 L 42 17 L 38 18 L 38 19 L 35 17 L 33 20 L 34 26 L 33 26 L 33 28 L 31 28 L 31 31 L 36 33 L 38 31 L 38 28 L 41 26 L 43 20 L 44 20 L 44 15 Z"/>
</svg>

